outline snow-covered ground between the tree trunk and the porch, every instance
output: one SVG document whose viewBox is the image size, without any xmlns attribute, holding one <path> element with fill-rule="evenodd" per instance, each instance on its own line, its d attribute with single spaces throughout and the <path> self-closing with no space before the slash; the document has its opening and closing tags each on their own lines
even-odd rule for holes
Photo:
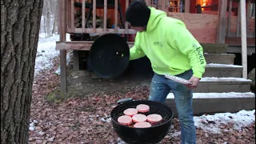
<svg viewBox="0 0 256 144">
<path fill-rule="evenodd" d="M 59 50 L 56 50 L 56 41 L 59 41 L 59 35 L 45 38 L 45 34 L 39 34 L 38 52 L 35 58 L 34 75 L 40 70 L 53 66 L 52 60 L 57 57 Z M 66 41 L 70 41 L 70 34 L 66 34 Z"/>
</svg>

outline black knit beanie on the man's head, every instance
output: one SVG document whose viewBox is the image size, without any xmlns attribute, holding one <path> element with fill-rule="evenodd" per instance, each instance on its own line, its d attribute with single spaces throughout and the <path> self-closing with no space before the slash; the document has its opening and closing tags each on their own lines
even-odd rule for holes
<svg viewBox="0 0 256 144">
<path fill-rule="evenodd" d="M 134 0 L 126 10 L 126 21 L 131 26 L 146 26 L 150 19 L 150 9 L 143 0 Z"/>
</svg>

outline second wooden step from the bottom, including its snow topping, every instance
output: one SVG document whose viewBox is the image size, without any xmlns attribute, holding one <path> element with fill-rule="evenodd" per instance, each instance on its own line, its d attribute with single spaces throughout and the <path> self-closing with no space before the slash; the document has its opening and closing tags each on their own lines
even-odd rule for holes
<svg viewBox="0 0 256 144">
<path fill-rule="evenodd" d="M 246 78 L 201 78 L 195 93 L 248 92 L 252 81 Z"/>
</svg>

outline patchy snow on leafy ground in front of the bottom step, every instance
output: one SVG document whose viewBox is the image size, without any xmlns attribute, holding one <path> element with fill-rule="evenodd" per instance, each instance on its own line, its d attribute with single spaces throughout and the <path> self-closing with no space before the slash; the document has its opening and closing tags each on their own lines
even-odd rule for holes
<svg viewBox="0 0 256 144">
<path fill-rule="evenodd" d="M 228 125 L 232 122 L 234 130 L 241 130 L 242 127 L 250 126 L 255 122 L 255 110 L 240 110 L 238 113 L 218 113 L 214 115 L 202 115 L 194 117 L 194 124 L 198 128 L 209 133 L 221 134 L 219 126 Z"/>
</svg>

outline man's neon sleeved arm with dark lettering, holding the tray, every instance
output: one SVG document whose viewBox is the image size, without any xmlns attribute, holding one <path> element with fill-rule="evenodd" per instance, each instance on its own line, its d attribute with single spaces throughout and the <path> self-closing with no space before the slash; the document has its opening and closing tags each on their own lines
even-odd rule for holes
<svg viewBox="0 0 256 144">
<path fill-rule="evenodd" d="M 190 66 L 193 70 L 193 76 L 202 78 L 205 73 L 206 59 L 203 56 L 202 46 L 194 38 L 185 25 L 178 25 L 173 30 L 174 45 L 178 50 L 190 58 Z"/>
</svg>

